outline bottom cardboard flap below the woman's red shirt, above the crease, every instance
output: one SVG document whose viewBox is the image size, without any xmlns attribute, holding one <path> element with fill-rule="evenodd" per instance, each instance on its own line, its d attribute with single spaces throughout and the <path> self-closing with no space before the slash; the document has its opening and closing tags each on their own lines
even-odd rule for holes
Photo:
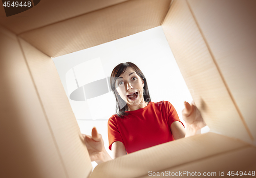
<svg viewBox="0 0 256 178">
<path fill-rule="evenodd" d="M 204 133 L 167 142 L 124 155 L 95 167 L 94 177 L 138 177 L 183 165 L 220 153 L 247 147 L 248 144 L 217 133 Z"/>
</svg>

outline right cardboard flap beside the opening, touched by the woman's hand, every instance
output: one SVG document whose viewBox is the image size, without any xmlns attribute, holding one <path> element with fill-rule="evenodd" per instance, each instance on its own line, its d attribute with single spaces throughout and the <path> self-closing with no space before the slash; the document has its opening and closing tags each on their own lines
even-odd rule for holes
<svg viewBox="0 0 256 178">
<path fill-rule="evenodd" d="M 211 46 L 205 40 L 186 1 L 174 1 L 162 28 L 210 131 L 252 143 L 250 131 L 239 114 L 222 69 L 216 63 Z M 234 72 L 231 69 L 228 71 L 230 74 Z"/>
</svg>

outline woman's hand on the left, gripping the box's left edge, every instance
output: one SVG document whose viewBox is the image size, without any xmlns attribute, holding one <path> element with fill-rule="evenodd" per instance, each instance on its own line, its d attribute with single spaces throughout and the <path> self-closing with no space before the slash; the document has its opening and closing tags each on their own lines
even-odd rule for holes
<svg viewBox="0 0 256 178">
<path fill-rule="evenodd" d="M 96 127 L 92 129 L 92 136 L 82 134 L 84 143 L 87 146 L 91 161 L 100 164 L 112 160 L 109 153 L 106 152 L 102 136 L 97 132 Z"/>
</svg>

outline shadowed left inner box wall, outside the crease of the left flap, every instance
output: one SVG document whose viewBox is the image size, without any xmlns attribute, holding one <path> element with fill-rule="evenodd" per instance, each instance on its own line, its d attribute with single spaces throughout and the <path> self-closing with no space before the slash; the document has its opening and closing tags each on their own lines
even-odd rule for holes
<svg viewBox="0 0 256 178">
<path fill-rule="evenodd" d="M 67 177 L 18 39 L 0 38 L 1 177 Z"/>
</svg>

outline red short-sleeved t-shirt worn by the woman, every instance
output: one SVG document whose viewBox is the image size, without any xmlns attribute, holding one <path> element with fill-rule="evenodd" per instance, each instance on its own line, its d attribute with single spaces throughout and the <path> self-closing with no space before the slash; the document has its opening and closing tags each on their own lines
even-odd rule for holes
<svg viewBox="0 0 256 178">
<path fill-rule="evenodd" d="M 174 121 L 181 122 L 168 101 L 150 102 L 146 107 L 127 113 L 124 118 L 113 115 L 108 121 L 110 150 L 116 141 L 123 143 L 127 153 L 173 141 L 170 125 Z"/>
</svg>

